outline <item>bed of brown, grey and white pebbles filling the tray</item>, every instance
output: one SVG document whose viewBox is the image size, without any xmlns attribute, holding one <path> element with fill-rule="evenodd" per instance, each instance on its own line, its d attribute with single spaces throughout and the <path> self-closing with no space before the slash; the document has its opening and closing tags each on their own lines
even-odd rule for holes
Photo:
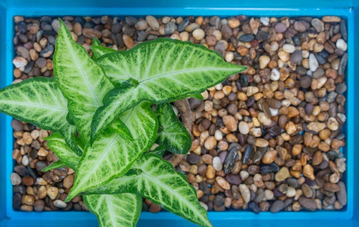
<svg viewBox="0 0 359 227">
<path fill-rule="evenodd" d="M 347 203 L 342 175 L 348 60 L 344 20 L 298 17 L 63 17 L 77 43 L 91 53 L 92 38 L 127 50 L 171 37 L 218 51 L 248 70 L 190 98 L 190 152 L 176 170 L 187 175 L 207 210 L 333 210 Z M 59 29 L 51 17 L 14 17 L 14 82 L 53 77 Z M 58 160 L 43 139 L 51 132 L 18 120 L 11 173 L 13 208 L 87 210 L 81 196 L 64 204 L 74 171 L 42 168 Z M 149 200 L 143 209 L 159 212 Z"/>
</svg>

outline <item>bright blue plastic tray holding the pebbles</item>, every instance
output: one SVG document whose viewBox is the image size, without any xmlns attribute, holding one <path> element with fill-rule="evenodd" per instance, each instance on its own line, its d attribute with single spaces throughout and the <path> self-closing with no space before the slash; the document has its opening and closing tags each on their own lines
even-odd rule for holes
<svg viewBox="0 0 359 227">
<path fill-rule="evenodd" d="M 219 0 L 174 0 L 174 1 L 111 1 L 111 0 L 0 0 L 0 88 L 11 84 L 13 80 L 14 56 L 13 48 L 13 16 L 64 16 L 64 15 L 126 15 L 143 16 L 186 16 L 219 15 L 228 17 L 235 15 L 253 16 L 305 16 L 322 17 L 337 15 L 346 20 L 348 26 L 348 65 L 346 68 L 346 116 L 344 127 L 346 146 L 344 154 L 347 158 L 347 170 L 344 174 L 348 192 L 348 205 L 342 210 L 321 210 L 315 212 L 300 211 L 279 212 L 272 214 L 262 212 L 254 214 L 243 210 L 227 212 L 209 212 L 209 219 L 214 226 L 359 226 L 359 153 L 355 150 L 358 141 L 359 96 L 355 94 L 359 86 L 359 1 L 357 0 L 262 0 L 262 1 L 219 1 Z M 357 90 L 358 91 L 358 90 Z M 1 227 L 71 227 L 97 226 L 96 218 L 89 212 L 19 212 L 12 208 L 12 185 L 10 174 L 14 161 L 11 158 L 13 136 L 10 126 L 11 117 L 0 114 L 0 226 Z M 356 176 L 356 177 L 355 177 Z M 137 226 L 194 226 L 169 212 L 157 214 L 143 212 Z"/>
</svg>

